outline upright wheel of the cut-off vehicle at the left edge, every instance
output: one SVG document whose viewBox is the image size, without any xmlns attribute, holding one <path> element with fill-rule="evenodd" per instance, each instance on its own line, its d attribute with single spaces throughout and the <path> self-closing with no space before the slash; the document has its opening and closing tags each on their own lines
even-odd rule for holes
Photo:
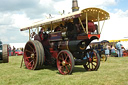
<svg viewBox="0 0 128 85">
<path fill-rule="evenodd" d="M 3 59 L 3 63 L 8 63 L 9 62 L 9 52 L 8 52 L 8 45 L 7 44 L 3 44 L 2 59 Z"/>
</svg>

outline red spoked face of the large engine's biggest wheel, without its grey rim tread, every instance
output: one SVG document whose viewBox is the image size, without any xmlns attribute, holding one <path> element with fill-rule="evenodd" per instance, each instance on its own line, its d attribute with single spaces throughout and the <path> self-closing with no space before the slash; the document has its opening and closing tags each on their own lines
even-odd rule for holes
<svg viewBox="0 0 128 85">
<path fill-rule="evenodd" d="M 24 50 L 24 62 L 28 69 L 34 69 L 36 65 L 36 48 L 33 43 L 28 42 Z"/>
</svg>

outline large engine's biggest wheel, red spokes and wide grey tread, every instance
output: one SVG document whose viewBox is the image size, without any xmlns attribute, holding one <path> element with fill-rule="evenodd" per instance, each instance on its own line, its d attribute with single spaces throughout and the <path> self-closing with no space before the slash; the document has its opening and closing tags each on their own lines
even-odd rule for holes
<svg viewBox="0 0 128 85">
<path fill-rule="evenodd" d="M 27 69 L 40 69 L 44 63 L 44 48 L 42 44 L 37 41 L 28 41 L 24 49 L 24 62 Z"/>
</svg>

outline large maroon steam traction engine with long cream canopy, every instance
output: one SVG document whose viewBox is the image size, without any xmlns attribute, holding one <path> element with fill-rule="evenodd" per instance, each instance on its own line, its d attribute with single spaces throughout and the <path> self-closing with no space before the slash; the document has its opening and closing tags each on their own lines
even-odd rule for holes
<svg viewBox="0 0 128 85">
<path fill-rule="evenodd" d="M 88 71 L 98 70 L 99 54 L 91 48 L 87 49 L 87 46 L 100 38 L 100 21 L 107 19 L 109 13 L 106 11 L 87 8 L 22 28 L 21 31 L 29 30 L 29 41 L 23 56 L 25 66 L 36 70 L 43 65 L 56 64 L 63 75 L 71 74 L 74 65 L 83 65 Z M 34 40 L 31 40 L 33 37 Z"/>
</svg>

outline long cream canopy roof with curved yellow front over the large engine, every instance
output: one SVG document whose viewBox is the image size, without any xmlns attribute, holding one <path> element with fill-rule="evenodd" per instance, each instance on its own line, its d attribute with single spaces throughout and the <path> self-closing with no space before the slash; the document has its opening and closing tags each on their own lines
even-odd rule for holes
<svg viewBox="0 0 128 85">
<path fill-rule="evenodd" d="M 51 27 L 51 24 L 53 27 L 55 27 L 57 25 L 64 24 L 66 21 L 72 22 L 73 18 L 77 18 L 77 17 L 80 17 L 80 19 L 83 21 L 83 20 L 86 20 L 86 13 L 87 13 L 88 20 L 91 20 L 93 22 L 98 21 L 98 15 L 99 15 L 99 21 L 107 20 L 110 18 L 109 13 L 106 12 L 105 10 L 102 10 L 100 8 L 86 8 L 80 11 L 72 12 L 67 15 L 63 15 L 58 18 L 51 18 L 44 21 L 42 20 L 42 21 L 36 22 L 30 26 L 21 28 L 20 30 L 24 31 L 32 28 L 37 28 L 37 27 L 48 28 L 48 27 Z"/>
</svg>

